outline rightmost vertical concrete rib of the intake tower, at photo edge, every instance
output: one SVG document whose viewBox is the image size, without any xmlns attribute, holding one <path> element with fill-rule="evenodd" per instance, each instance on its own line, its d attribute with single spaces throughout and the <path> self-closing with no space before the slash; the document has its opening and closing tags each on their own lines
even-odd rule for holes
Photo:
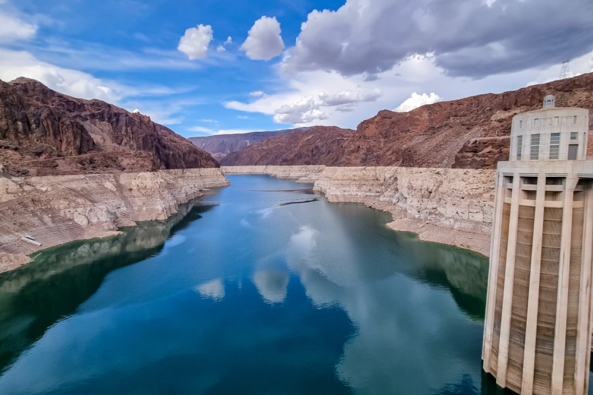
<svg viewBox="0 0 593 395">
<path fill-rule="evenodd" d="M 591 350 L 591 316 L 589 301 L 591 300 L 591 260 L 593 258 L 593 191 L 588 185 L 585 195 L 585 229 L 583 232 L 583 255 L 581 264 L 581 284 L 579 286 L 579 316 L 576 332 L 575 350 L 575 394 L 584 395 L 589 377 L 589 355 Z"/>
</svg>

